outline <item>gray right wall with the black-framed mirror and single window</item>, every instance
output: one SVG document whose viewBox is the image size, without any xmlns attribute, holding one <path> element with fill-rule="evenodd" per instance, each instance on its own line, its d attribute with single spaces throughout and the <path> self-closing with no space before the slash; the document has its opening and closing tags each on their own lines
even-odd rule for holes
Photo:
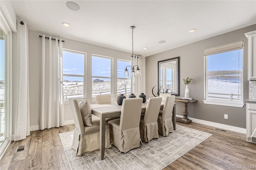
<svg viewBox="0 0 256 170">
<path fill-rule="evenodd" d="M 224 45 L 232 42 L 244 40 L 243 56 L 243 76 L 244 76 L 244 99 L 248 99 L 247 80 L 247 53 L 248 39 L 244 35 L 246 32 L 256 30 L 256 25 L 248 26 L 239 30 L 228 32 L 201 40 L 195 43 L 184 45 L 175 49 L 164 51 L 146 57 L 146 93 L 152 94 L 151 90 L 157 85 L 157 62 L 180 56 L 180 97 L 184 97 L 186 85 L 183 84 L 183 77 L 193 77 L 192 84 L 189 85 L 190 97 L 197 99 L 196 103 L 188 104 L 188 117 L 231 125 L 234 127 L 246 128 L 246 107 L 228 107 L 204 104 L 204 49 Z M 176 114 L 182 115 L 182 103 L 176 103 Z M 228 119 L 224 119 L 224 114 L 228 114 Z"/>
</svg>

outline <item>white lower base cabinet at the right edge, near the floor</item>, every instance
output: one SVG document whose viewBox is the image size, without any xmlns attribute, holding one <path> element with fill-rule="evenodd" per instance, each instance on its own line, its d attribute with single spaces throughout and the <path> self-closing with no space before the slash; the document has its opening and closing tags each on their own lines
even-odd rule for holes
<svg viewBox="0 0 256 170">
<path fill-rule="evenodd" d="M 246 140 L 256 143 L 256 103 L 246 103 Z"/>
</svg>

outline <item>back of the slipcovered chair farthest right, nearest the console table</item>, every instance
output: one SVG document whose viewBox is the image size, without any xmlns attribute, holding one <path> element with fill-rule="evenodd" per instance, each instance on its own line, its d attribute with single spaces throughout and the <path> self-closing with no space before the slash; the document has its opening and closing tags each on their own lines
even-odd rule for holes
<svg viewBox="0 0 256 170">
<path fill-rule="evenodd" d="M 162 120 L 169 119 L 172 117 L 172 110 L 174 106 L 175 96 L 167 96 L 164 102 L 164 109 L 162 113 Z"/>
</svg>

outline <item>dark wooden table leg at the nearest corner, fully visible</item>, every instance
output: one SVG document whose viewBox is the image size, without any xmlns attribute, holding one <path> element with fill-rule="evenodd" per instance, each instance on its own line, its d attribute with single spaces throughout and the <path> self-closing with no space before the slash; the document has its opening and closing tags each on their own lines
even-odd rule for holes
<svg viewBox="0 0 256 170">
<path fill-rule="evenodd" d="M 100 117 L 100 160 L 104 159 L 106 138 L 106 115 Z"/>
</svg>

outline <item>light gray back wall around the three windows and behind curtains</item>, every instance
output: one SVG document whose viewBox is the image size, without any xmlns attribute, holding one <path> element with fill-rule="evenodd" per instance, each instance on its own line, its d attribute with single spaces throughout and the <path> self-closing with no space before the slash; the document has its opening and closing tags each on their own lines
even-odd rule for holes
<svg viewBox="0 0 256 170">
<path fill-rule="evenodd" d="M 34 129 L 39 127 L 39 77 L 40 77 L 40 59 L 41 59 L 41 38 L 42 32 L 37 32 L 33 30 L 28 30 L 28 48 L 29 48 L 29 93 L 30 93 L 30 127 Z M 47 34 L 45 34 L 48 36 Z M 52 36 L 54 38 L 54 36 Z M 117 51 L 114 49 L 109 49 L 105 47 L 100 47 L 97 45 L 92 45 L 88 43 L 78 42 L 70 39 L 65 39 L 63 43 L 63 48 L 71 49 L 76 51 L 86 52 L 86 98 L 89 103 L 94 103 L 91 100 L 92 96 L 92 76 L 91 76 L 91 55 L 104 55 L 113 58 L 113 93 L 117 94 L 117 59 L 131 60 L 131 54 L 122 51 Z M 12 36 L 12 134 L 14 134 L 15 127 L 15 117 L 16 117 L 16 104 L 17 104 L 17 67 L 18 67 L 18 54 L 17 54 L 17 34 L 13 33 Z M 125 68 L 124 68 L 125 69 Z M 142 92 L 145 91 L 145 57 L 142 57 L 141 65 L 141 75 L 142 75 Z M 64 121 L 66 123 L 72 122 L 73 117 L 71 114 L 69 103 L 64 104 Z M 65 123 L 65 122 L 64 122 Z"/>
</svg>

